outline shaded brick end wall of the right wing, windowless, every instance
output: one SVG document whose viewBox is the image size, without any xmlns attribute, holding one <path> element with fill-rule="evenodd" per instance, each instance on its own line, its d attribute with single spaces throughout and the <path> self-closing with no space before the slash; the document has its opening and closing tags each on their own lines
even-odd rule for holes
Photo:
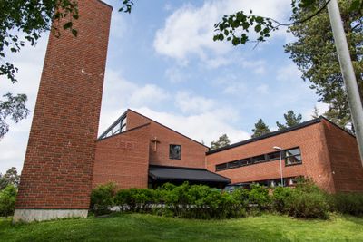
<svg viewBox="0 0 363 242">
<path fill-rule="evenodd" d="M 323 121 L 336 191 L 363 191 L 363 168 L 355 137 Z"/>
</svg>

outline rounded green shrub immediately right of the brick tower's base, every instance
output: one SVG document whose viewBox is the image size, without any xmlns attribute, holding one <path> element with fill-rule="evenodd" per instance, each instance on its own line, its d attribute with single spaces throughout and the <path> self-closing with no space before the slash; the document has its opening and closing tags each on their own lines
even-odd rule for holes
<svg viewBox="0 0 363 242">
<path fill-rule="evenodd" d="M 110 212 L 110 208 L 114 205 L 115 192 L 116 185 L 114 183 L 99 185 L 92 190 L 90 208 L 94 214 L 101 215 Z"/>
</svg>

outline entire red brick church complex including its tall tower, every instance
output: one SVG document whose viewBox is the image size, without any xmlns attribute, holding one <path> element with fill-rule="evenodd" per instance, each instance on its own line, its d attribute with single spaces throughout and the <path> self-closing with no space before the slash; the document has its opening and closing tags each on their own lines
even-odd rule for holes
<svg viewBox="0 0 363 242">
<path fill-rule="evenodd" d="M 209 150 L 135 111 L 97 139 L 112 7 L 78 0 L 78 36 L 50 34 L 14 220 L 86 217 L 91 189 L 154 188 L 164 182 L 289 185 L 310 177 L 331 192 L 363 190 L 355 137 L 319 118 Z M 57 23 L 55 23 L 57 24 Z M 62 23 L 61 23 L 62 24 Z"/>
</svg>

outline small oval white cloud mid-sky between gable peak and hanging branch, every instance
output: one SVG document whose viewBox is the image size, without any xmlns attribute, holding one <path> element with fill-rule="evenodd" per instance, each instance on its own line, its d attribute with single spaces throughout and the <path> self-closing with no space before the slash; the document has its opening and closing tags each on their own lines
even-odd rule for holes
<svg viewBox="0 0 363 242">
<path fill-rule="evenodd" d="M 190 92 L 177 92 L 175 104 L 184 113 L 200 113 L 210 111 L 215 102 L 200 96 L 193 96 Z"/>
</svg>

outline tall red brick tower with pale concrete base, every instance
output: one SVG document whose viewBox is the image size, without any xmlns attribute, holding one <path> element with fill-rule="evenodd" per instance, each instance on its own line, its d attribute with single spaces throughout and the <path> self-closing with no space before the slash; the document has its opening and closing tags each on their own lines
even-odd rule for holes
<svg viewBox="0 0 363 242">
<path fill-rule="evenodd" d="M 78 8 L 78 36 L 49 37 L 15 221 L 87 216 L 112 7 Z"/>
</svg>

